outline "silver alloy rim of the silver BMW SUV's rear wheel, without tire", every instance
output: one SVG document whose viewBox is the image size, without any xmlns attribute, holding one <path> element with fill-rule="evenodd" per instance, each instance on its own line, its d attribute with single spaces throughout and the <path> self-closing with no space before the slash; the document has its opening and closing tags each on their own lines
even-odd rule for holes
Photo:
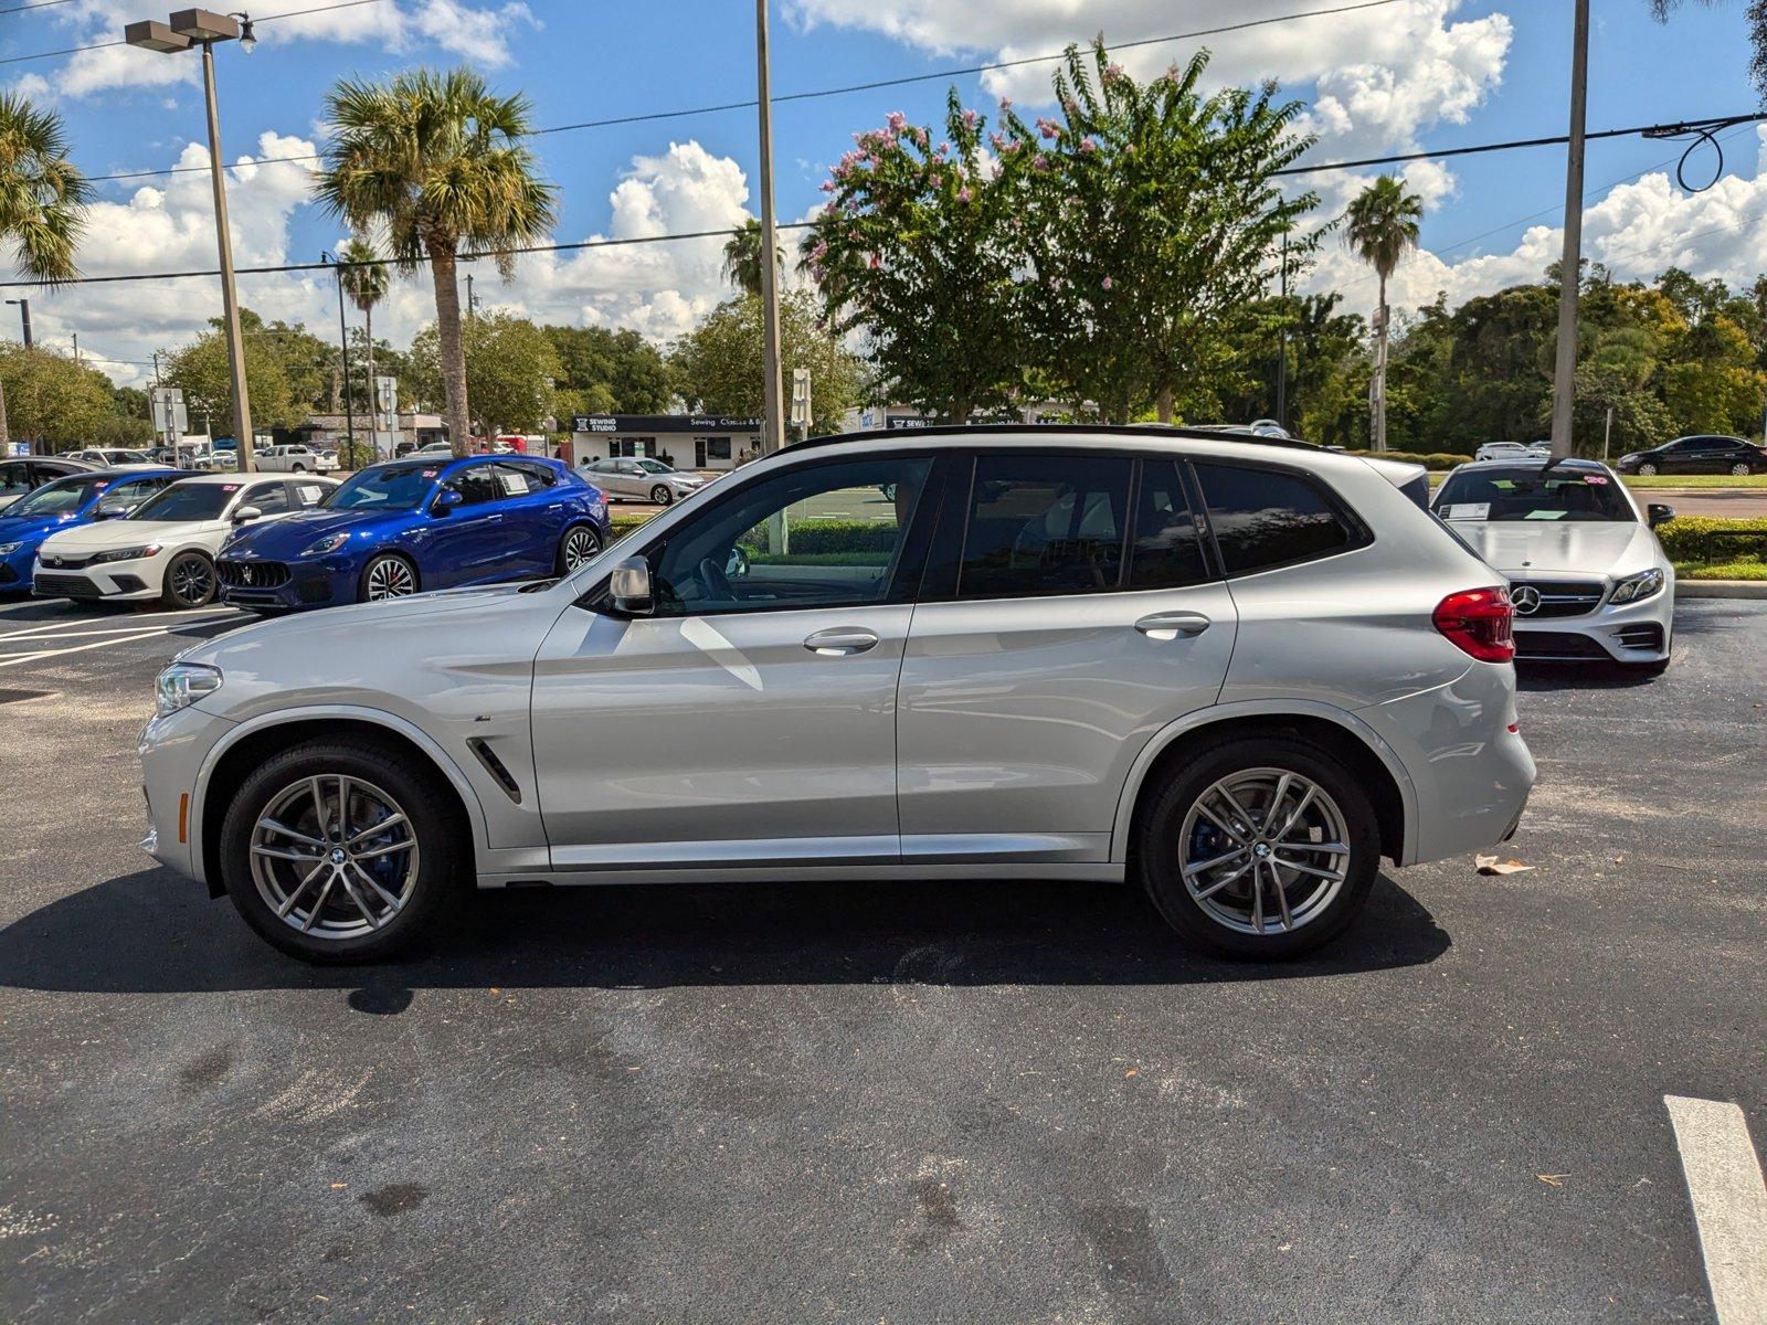
<svg viewBox="0 0 1767 1325">
<path fill-rule="evenodd" d="M 1286 768 L 1244 768 L 1191 804 L 1179 834 L 1184 887 L 1210 920 L 1244 935 L 1318 919 L 1350 876 L 1343 811 Z"/>
</svg>

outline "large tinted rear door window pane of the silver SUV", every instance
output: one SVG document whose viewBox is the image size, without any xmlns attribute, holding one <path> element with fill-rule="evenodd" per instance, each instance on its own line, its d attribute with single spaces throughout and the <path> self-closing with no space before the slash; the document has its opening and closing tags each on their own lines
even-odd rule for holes
<svg viewBox="0 0 1767 1325">
<path fill-rule="evenodd" d="M 1122 456 L 981 456 L 958 594 L 1103 594 L 1122 578 L 1129 466 Z"/>
</svg>

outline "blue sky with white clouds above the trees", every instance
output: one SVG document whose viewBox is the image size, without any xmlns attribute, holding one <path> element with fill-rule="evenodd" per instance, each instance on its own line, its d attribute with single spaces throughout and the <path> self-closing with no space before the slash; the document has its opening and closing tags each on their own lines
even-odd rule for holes
<svg viewBox="0 0 1767 1325">
<path fill-rule="evenodd" d="M 4 0 L 0 9 L 19 0 Z M 281 12 L 323 0 L 274 0 Z M 1295 14 L 1332 0 L 785 0 L 774 9 L 774 90 L 924 74 L 951 65 L 1058 49 L 1103 30 L 1106 41 L 1145 39 L 1239 18 Z M 1590 57 L 1592 129 L 1748 111 L 1742 4 L 1689 4 L 1670 25 L 1645 0 L 1597 0 Z M 115 35 L 127 18 L 154 16 L 131 0 L 67 0 L 0 14 L 0 57 L 30 55 Z M 1081 18 L 1083 16 L 1083 18 Z M 1392 0 L 1354 14 L 1276 23 L 1207 39 L 1223 80 L 1279 76 L 1309 106 L 1322 132 L 1315 159 L 1440 148 L 1562 132 L 1569 62 L 1569 0 Z M 746 0 L 663 0 L 652 5 L 565 0 L 371 0 L 306 18 L 263 23 L 253 55 L 223 48 L 221 97 L 228 161 L 311 152 L 322 141 L 323 94 L 339 74 L 385 74 L 413 64 L 468 60 L 500 88 L 521 88 L 539 125 L 641 115 L 753 95 L 753 7 Z M 1141 48 L 1133 72 L 1182 58 L 1196 42 Z M 1046 95 L 1050 65 L 954 80 L 967 101 L 991 108 L 1000 92 L 1021 104 Z M 203 164 L 201 97 L 194 57 L 127 48 L 0 65 L 9 88 L 55 104 L 78 161 L 90 173 Z M 887 111 L 931 118 L 945 81 L 783 102 L 776 111 L 779 214 L 811 210 L 857 129 Z M 548 134 L 537 141 L 564 193 L 560 238 L 638 235 L 730 224 L 753 212 L 753 110 Z M 1626 274 L 1670 260 L 1705 274 L 1751 277 L 1767 267 L 1767 180 L 1756 180 L 1753 129 L 1726 143 L 1719 189 L 1680 194 L 1643 175 L 1590 198 L 1590 251 L 1619 254 Z M 1679 152 L 1668 143 L 1594 145 L 1592 189 Z M 1408 170 L 1430 201 L 1424 254 L 1396 281 L 1394 302 L 1447 290 L 1463 299 L 1534 276 L 1557 246 L 1564 189 L 1560 148 L 1460 159 Z M 235 171 L 230 196 L 240 261 L 300 261 L 332 246 L 337 226 L 304 205 L 302 166 Z M 1362 171 L 1368 175 L 1371 171 Z M 1709 173 L 1709 171 L 1707 171 Z M 1341 207 L 1357 175 L 1315 177 L 1327 208 Z M 200 171 L 102 186 L 87 270 L 117 274 L 212 265 L 207 178 Z M 1491 231 L 1491 233 L 1484 233 Z M 1483 235 L 1475 244 L 1461 244 Z M 1603 247 L 1606 246 L 1606 247 Z M 723 293 L 716 246 L 675 244 L 525 263 L 512 286 L 488 270 L 491 304 L 567 322 L 638 325 L 657 339 L 680 334 Z M 1336 246 L 1320 284 L 1352 304 L 1373 290 Z M 334 318 L 330 286 L 302 276 L 251 277 L 246 300 L 274 316 Z M 403 283 L 380 325 L 405 337 L 421 325 L 429 293 Z M 39 334 L 118 360 L 175 344 L 217 302 L 212 283 L 88 286 L 35 300 Z M 140 364 L 118 362 L 120 376 Z"/>
</svg>

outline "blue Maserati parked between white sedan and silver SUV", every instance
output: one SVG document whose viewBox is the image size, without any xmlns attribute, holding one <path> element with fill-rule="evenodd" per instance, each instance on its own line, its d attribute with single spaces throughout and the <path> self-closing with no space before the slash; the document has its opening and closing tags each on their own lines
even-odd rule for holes
<svg viewBox="0 0 1767 1325">
<path fill-rule="evenodd" d="M 608 500 L 535 456 L 371 465 L 323 505 L 246 525 L 221 548 L 221 601 L 279 613 L 428 588 L 541 579 L 608 542 Z"/>
</svg>

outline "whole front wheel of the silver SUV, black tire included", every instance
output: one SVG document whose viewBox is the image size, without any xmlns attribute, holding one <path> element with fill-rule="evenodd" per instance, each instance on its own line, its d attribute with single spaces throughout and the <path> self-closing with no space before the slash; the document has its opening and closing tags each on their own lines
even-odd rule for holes
<svg viewBox="0 0 1767 1325">
<path fill-rule="evenodd" d="M 325 799 L 323 816 L 311 791 L 315 779 Z M 343 834 L 336 832 L 334 779 L 348 793 Z M 221 825 L 221 882 L 246 924 L 292 958 L 318 965 L 382 961 L 428 938 L 466 889 L 472 839 L 459 818 L 447 816 L 449 804 L 447 783 L 410 756 L 369 740 L 302 742 L 265 760 L 235 793 Z M 403 823 L 383 811 L 403 816 Z M 366 830 L 355 829 L 362 816 L 373 816 Z M 279 830 L 265 829 L 263 820 L 274 820 Z M 375 832 L 373 823 L 382 820 L 391 827 Z M 346 857 L 355 869 L 330 869 L 330 859 L 352 841 L 355 852 L 373 855 Z M 405 850 L 401 841 L 408 843 Z M 311 871 L 307 859 L 315 860 Z"/>
</svg>

